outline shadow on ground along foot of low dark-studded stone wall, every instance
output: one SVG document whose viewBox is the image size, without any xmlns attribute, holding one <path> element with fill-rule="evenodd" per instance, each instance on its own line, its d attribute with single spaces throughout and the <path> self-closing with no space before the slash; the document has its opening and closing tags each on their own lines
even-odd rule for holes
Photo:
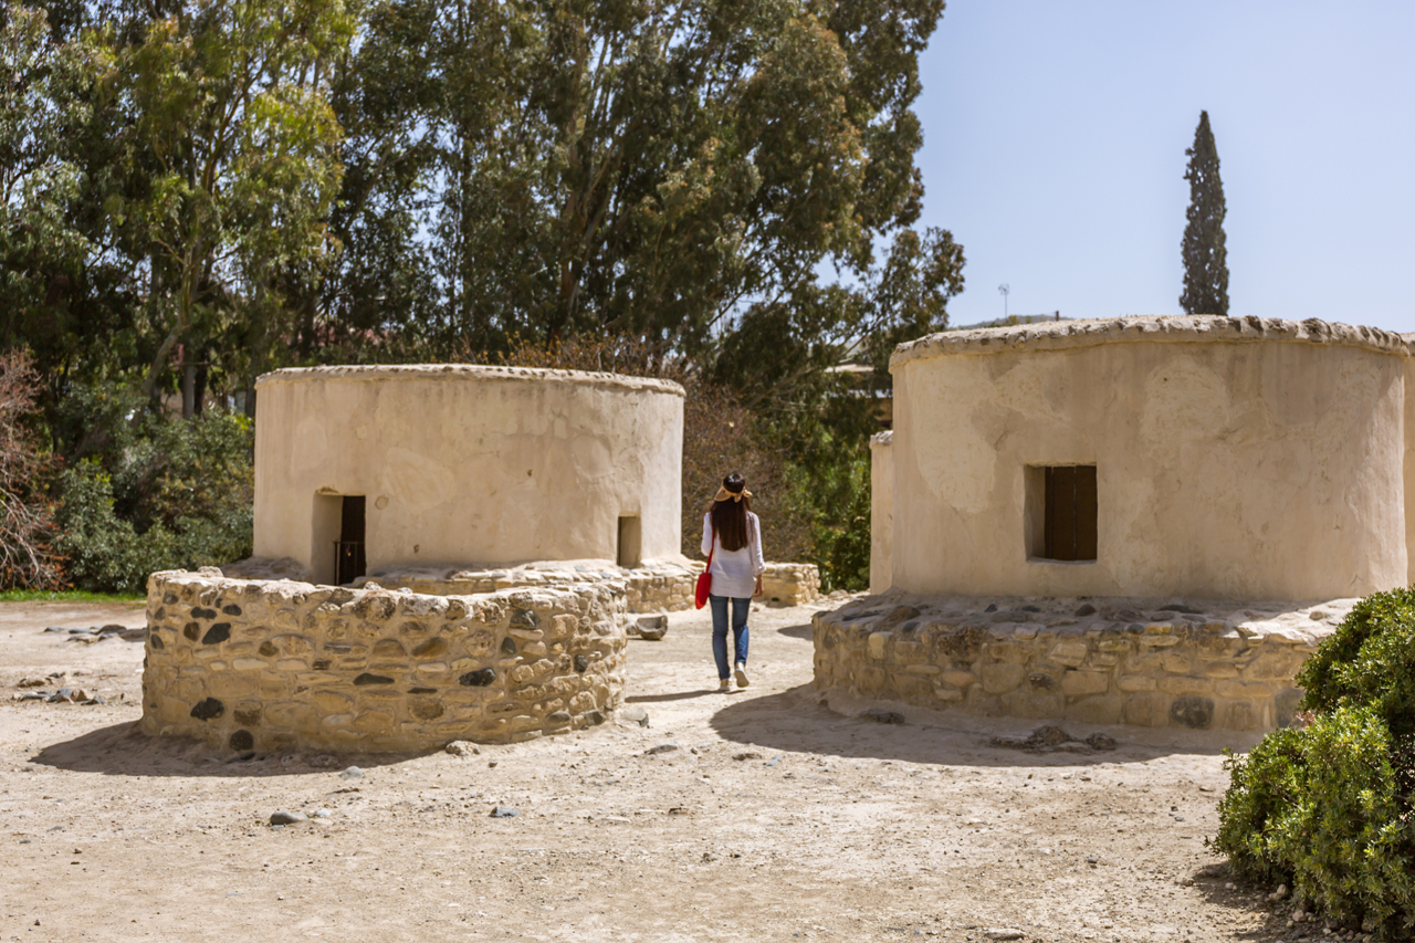
<svg viewBox="0 0 1415 943">
<path fill-rule="evenodd" d="M 109 776 L 310 776 L 328 775 L 347 766 L 376 769 L 392 766 L 420 753 L 289 753 L 232 755 L 212 750 L 198 741 L 143 733 L 137 721 L 115 724 L 45 746 L 28 762 L 76 773 Z M 314 760 L 311 763 L 310 760 Z M 318 765 L 316 765 L 318 763 Z"/>
</svg>

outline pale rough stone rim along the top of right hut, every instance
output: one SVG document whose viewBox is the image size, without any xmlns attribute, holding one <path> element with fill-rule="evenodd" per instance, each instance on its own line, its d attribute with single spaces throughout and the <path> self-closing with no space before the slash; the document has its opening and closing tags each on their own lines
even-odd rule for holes
<svg viewBox="0 0 1415 943">
<path fill-rule="evenodd" d="M 1075 321 L 1041 321 L 1010 327 L 941 331 L 894 348 L 890 370 L 911 360 L 962 354 L 1002 354 L 1015 350 L 1070 350 L 1124 343 L 1286 343 L 1358 347 L 1407 357 L 1411 343 L 1378 327 L 1358 327 L 1317 319 L 1289 321 L 1276 317 L 1126 316 Z"/>
</svg>

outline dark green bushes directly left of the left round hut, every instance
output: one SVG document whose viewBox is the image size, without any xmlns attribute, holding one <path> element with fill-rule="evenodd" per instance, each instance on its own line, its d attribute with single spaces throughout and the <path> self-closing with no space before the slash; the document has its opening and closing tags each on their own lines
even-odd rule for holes
<svg viewBox="0 0 1415 943">
<path fill-rule="evenodd" d="M 59 476 L 55 544 L 75 586 L 140 592 L 154 571 L 250 555 L 249 419 L 151 415 L 120 388 L 79 391 L 65 406 L 61 429 L 85 457 Z"/>
</svg>

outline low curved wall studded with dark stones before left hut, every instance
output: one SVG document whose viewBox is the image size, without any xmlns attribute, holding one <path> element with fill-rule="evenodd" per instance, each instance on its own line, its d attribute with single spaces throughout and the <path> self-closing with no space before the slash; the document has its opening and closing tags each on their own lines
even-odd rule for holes
<svg viewBox="0 0 1415 943">
<path fill-rule="evenodd" d="M 161 572 L 142 724 L 236 752 L 526 741 L 603 724 L 624 648 L 614 583 L 427 596 Z"/>
</svg>

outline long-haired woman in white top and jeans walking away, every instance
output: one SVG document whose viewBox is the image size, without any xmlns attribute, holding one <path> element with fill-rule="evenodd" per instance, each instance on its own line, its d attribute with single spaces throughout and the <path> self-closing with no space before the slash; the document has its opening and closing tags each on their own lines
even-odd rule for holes
<svg viewBox="0 0 1415 943">
<path fill-rule="evenodd" d="M 733 663 L 737 687 L 747 680 L 747 612 L 761 595 L 761 522 L 751 513 L 751 491 L 733 471 L 722 480 L 712 508 L 703 514 L 703 554 L 709 555 L 712 589 L 712 654 L 717 661 L 717 690 L 732 691 L 727 673 L 727 607 L 732 606 Z"/>
</svg>

